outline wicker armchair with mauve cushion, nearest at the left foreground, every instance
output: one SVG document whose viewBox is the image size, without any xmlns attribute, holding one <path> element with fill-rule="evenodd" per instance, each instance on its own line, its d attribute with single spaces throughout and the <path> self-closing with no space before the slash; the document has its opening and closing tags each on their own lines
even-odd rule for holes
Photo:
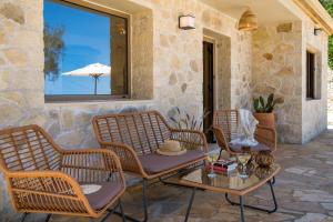
<svg viewBox="0 0 333 222">
<path fill-rule="evenodd" d="M 38 125 L 0 131 L 0 170 L 17 212 L 99 218 L 125 190 L 121 164 L 108 150 L 62 150 Z M 82 184 L 100 190 L 83 194 Z M 107 216 L 104 219 L 107 219 Z M 124 218 L 123 218 L 124 219 Z"/>
</svg>

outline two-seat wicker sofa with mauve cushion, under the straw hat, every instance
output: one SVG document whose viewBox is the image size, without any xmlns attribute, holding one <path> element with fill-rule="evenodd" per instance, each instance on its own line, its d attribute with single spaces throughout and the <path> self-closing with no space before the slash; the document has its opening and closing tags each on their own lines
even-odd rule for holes
<svg viewBox="0 0 333 222">
<path fill-rule="evenodd" d="M 101 148 L 114 151 L 124 171 L 143 179 L 143 221 L 148 220 L 147 181 L 161 180 L 163 175 L 201 163 L 208 152 L 202 132 L 172 129 L 157 111 L 94 117 L 93 128 Z M 179 141 L 188 152 L 176 157 L 157 154 L 155 150 L 170 139 Z"/>
</svg>

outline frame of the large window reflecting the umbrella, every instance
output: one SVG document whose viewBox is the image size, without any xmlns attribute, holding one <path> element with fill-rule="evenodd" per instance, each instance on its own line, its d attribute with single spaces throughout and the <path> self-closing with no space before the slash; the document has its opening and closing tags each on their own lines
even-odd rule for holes
<svg viewBox="0 0 333 222">
<path fill-rule="evenodd" d="M 121 100 L 131 98 L 131 17 L 128 13 L 110 9 L 108 7 L 102 7 L 100 4 L 89 3 L 82 0 L 52 0 L 56 3 L 60 3 L 67 7 L 84 10 L 88 12 L 102 14 L 107 17 L 119 17 L 125 20 L 127 23 L 127 93 L 124 94 L 46 94 L 46 102 L 80 102 L 80 101 L 105 101 L 105 100 Z M 43 2 L 44 3 L 44 2 Z M 111 24 L 111 23 L 110 23 Z M 111 33 L 110 33 L 111 37 Z M 111 47 L 110 44 L 110 60 L 111 58 Z M 110 75 L 111 77 L 111 75 Z"/>
</svg>

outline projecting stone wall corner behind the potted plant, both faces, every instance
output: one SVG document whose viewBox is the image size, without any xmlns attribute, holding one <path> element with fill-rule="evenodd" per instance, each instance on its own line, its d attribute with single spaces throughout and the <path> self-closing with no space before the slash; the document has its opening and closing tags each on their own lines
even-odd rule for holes
<svg viewBox="0 0 333 222">
<path fill-rule="evenodd" d="M 261 27 L 253 33 L 253 95 L 275 93 L 281 142 L 304 143 L 327 127 L 327 36 L 309 19 Z M 317 98 L 306 100 L 306 50 L 315 53 Z"/>
</svg>

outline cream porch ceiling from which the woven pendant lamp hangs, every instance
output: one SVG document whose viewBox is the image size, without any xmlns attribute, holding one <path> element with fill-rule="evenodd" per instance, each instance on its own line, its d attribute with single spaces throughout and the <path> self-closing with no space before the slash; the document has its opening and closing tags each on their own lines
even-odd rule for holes
<svg viewBox="0 0 333 222">
<path fill-rule="evenodd" d="M 239 20 L 248 7 L 258 14 L 259 23 L 297 20 L 279 0 L 201 0 Z"/>
</svg>

